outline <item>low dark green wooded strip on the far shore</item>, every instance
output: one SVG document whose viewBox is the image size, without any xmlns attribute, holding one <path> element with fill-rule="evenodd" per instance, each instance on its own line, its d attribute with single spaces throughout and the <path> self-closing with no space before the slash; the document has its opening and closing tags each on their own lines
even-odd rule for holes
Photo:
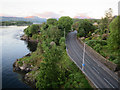
<svg viewBox="0 0 120 90">
<path fill-rule="evenodd" d="M 12 26 L 12 25 L 17 25 L 17 26 L 27 26 L 33 24 L 32 22 L 27 22 L 27 21 L 2 21 L 0 22 L 0 26 Z"/>
</svg>

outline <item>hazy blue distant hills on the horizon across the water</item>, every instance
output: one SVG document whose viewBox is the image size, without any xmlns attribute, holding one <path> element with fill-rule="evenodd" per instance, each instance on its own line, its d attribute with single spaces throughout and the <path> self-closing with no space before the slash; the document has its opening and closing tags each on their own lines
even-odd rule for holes
<svg viewBox="0 0 120 90">
<path fill-rule="evenodd" d="M 45 18 L 39 18 L 37 16 L 29 16 L 29 17 L 7 17 L 0 16 L 0 21 L 30 21 L 33 23 L 43 23 L 46 22 Z"/>
</svg>

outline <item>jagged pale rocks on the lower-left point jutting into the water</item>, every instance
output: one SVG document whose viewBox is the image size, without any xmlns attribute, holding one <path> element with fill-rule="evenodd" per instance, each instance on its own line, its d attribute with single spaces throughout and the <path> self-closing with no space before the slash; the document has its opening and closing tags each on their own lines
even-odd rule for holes
<svg viewBox="0 0 120 90">
<path fill-rule="evenodd" d="M 27 54 L 26 56 L 30 56 L 30 53 Z M 22 61 L 22 66 L 20 66 L 18 61 L 20 60 L 17 59 L 13 64 L 13 71 L 25 73 L 25 76 L 23 78 L 24 81 L 28 83 L 30 86 L 32 86 L 33 88 L 35 88 L 36 86 L 35 76 L 37 72 L 31 73 L 30 71 L 37 71 L 39 68 L 37 66 L 35 67 L 33 65 L 30 65 L 29 63 L 26 63 L 25 61 Z"/>
</svg>

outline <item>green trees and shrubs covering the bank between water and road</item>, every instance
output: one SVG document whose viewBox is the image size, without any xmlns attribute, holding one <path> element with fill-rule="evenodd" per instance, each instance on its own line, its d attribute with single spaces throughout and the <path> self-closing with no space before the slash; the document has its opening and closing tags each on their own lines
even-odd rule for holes
<svg viewBox="0 0 120 90">
<path fill-rule="evenodd" d="M 18 63 L 37 68 L 29 72 L 31 78 L 36 79 L 37 88 L 91 88 L 66 52 L 65 34 L 71 30 L 72 24 L 70 17 L 61 17 L 58 21 L 48 19 L 47 23 L 31 25 L 24 30 L 28 37 L 39 43 L 35 52 L 21 58 Z"/>
</svg>

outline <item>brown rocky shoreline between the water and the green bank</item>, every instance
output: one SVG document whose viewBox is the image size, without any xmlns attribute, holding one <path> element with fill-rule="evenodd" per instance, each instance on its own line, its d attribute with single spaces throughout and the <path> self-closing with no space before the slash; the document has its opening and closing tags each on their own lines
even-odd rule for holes
<svg viewBox="0 0 120 90">
<path fill-rule="evenodd" d="M 38 40 L 33 40 L 31 38 L 28 38 L 26 35 L 21 36 L 21 40 L 38 43 Z M 30 56 L 31 56 L 31 53 L 23 56 L 22 58 L 30 57 Z M 19 62 L 21 62 L 22 65 Z M 13 63 L 13 71 L 18 73 L 24 73 L 23 81 L 28 85 L 30 85 L 32 88 L 36 88 L 36 74 L 39 72 L 38 69 L 39 69 L 38 67 L 30 65 L 29 63 L 25 63 L 20 59 L 17 59 Z"/>
</svg>

